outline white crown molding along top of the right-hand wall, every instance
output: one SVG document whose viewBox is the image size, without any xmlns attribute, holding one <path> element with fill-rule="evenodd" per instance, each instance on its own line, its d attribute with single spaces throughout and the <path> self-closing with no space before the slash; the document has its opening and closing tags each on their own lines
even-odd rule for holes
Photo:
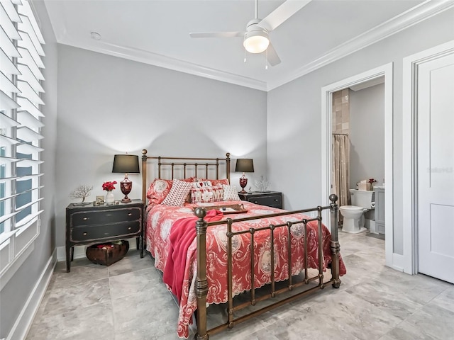
<svg viewBox="0 0 454 340">
<path fill-rule="evenodd" d="M 313 62 L 300 67 L 296 72 L 287 74 L 286 77 L 281 77 L 276 81 L 269 81 L 267 84 L 267 91 L 276 89 L 279 86 L 287 84 L 289 81 L 298 79 L 305 74 L 313 72 L 316 69 L 326 66 L 327 64 L 331 64 L 331 62 L 335 62 L 336 60 L 346 57 L 354 52 L 357 52 L 358 50 L 362 50 L 362 48 L 388 38 L 391 35 L 399 33 L 410 26 L 414 26 L 421 21 L 431 18 L 431 16 L 435 16 L 436 14 L 453 7 L 454 1 L 426 0 L 418 6 L 410 8 L 408 11 L 399 14 L 399 16 L 395 16 L 379 26 L 367 30 L 365 33 L 338 45 L 338 47 L 333 48 L 333 50 L 328 51 L 326 54 L 317 58 Z"/>
</svg>

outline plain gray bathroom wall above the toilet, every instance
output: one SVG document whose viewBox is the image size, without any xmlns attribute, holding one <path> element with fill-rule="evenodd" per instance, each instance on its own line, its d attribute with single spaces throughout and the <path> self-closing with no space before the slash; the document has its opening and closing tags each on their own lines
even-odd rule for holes
<svg viewBox="0 0 454 340">
<path fill-rule="evenodd" d="M 384 179 L 384 84 L 350 96 L 350 188 L 364 179 Z"/>
</svg>

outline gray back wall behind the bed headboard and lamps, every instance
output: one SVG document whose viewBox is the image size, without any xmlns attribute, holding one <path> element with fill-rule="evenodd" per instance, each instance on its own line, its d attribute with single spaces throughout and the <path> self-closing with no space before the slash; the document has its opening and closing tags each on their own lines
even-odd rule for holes
<svg viewBox="0 0 454 340">
<path fill-rule="evenodd" d="M 59 45 L 57 121 L 57 246 L 65 244 L 65 208 L 79 184 L 104 195 L 114 154 L 254 159 L 265 173 L 264 91 Z M 233 170 L 235 162 L 232 162 Z M 240 174 L 232 174 L 239 187 Z M 130 174 L 140 198 L 139 174 Z M 114 191 L 116 199 L 123 196 Z"/>
</svg>

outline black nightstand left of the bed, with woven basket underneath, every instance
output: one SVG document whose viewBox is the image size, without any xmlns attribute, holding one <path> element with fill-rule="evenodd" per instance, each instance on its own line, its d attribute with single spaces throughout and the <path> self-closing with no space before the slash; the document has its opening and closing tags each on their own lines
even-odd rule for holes
<svg viewBox="0 0 454 340">
<path fill-rule="evenodd" d="M 71 271 L 74 246 L 137 237 L 143 257 L 142 200 L 112 205 L 74 205 L 66 208 L 66 271 Z M 70 256 L 71 253 L 71 256 Z"/>
</svg>

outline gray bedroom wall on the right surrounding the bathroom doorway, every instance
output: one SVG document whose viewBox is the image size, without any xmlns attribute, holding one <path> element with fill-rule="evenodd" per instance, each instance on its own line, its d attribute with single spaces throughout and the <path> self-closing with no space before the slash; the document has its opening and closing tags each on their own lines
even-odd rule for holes
<svg viewBox="0 0 454 340">
<path fill-rule="evenodd" d="M 411 175 L 402 174 L 402 59 L 453 40 L 453 18 L 445 11 L 268 93 L 267 174 L 286 208 L 320 204 L 321 88 L 393 62 L 394 252 L 402 254 L 402 179 Z"/>
</svg>

